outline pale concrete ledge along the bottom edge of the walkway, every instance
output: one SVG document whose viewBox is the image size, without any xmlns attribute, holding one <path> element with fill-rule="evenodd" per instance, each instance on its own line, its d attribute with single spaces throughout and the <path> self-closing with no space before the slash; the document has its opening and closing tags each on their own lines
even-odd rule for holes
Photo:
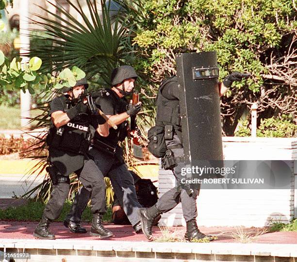
<svg viewBox="0 0 297 262">
<path fill-rule="evenodd" d="M 135 245 L 136 244 L 136 245 Z M 197 260 L 197 257 L 209 255 L 223 256 L 226 261 L 241 261 L 244 257 L 295 258 L 297 261 L 297 244 L 240 244 L 240 243 L 157 243 L 127 241 L 71 241 L 65 240 L 24 240 L 1 239 L 0 251 L 4 249 L 15 252 L 30 251 L 36 255 L 76 255 L 97 257 L 158 258 Z M 64 251 L 63 251 L 64 250 Z M 237 258 L 237 260 L 236 260 Z M 268 259 L 269 258 L 269 259 Z M 216 259 L 217 260 L 217 259 Z M 259 259 L 258 259 L 259 261 Z M 294 260 L 292 260 L 294 261 Z"/>
</svg>

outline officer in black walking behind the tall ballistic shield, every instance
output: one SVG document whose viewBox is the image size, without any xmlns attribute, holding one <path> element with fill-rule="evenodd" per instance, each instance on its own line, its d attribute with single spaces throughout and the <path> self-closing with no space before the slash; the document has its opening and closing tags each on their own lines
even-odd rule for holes
<svg viewBox="0 0 297 262">
<path fill-rule="evenodd" d="M 223 83 L 219 84 L 219 95 L 222 96 L 226 93 L 234 81 L 240 81 L 240 79 L 233 77 L 232 75 L 227 76 Z M 183 145 L 181 143 L 179 99 L 177 77 L 174 76 L 163 82 L 159 88 L 157 97 L 156 126 L 165 127 L 165 125 L 170 125 L 173 127 L 173 139 L 165 140 L 165 143 L 166 147 L 172 151 L 177 163 L 174 169 L 172 169 L 177 186 L 167 191 L 151 208 L 139 209 L 142 231 L 150 240 L 152 238 L 151 228 L 154 218 L 159 214 L 170 211 L 181 203 L 183 217 L 186 221 L 186 241 L 202 238 L 213 240 L 211 236 L 206 236 L 200 232 L 197 227 L 196 198 L 198 195 L 198 189 L 193 190 L 188 186 L 188 184 L 185 185 L 181 183 L 181 168 L 185 167 L 185 163 L 183 159 Z M 169 108 L 171 110 L 168 110 Z"/>
</svg>

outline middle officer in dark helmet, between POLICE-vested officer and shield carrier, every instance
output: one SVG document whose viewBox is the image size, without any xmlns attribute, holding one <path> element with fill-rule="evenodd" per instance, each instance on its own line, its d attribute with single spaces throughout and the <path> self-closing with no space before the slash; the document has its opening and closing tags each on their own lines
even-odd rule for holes
<svg viewBox="0 0 297 262">
<path fill-rule="evenodd" d="M 123 141 L 127 136 L 127 119 L 132 115 L 137 115 L 141 109 L 141 102 L 132 105 L 125 98 L 132 94 L 137 77 L 132 66 L 119 66 L 113 70 L 112 88 L 106 90 L 106 96 L 97 98 L 96 103 L 100 104 L 101 110 L 118 128 L 117 130 L 111 128 L 107 137 L 95 134 L 89 155 L 94 159 L 101 174 L 110 178 L 115 196 L 128 216 L 133 229 L 139 233 L 141 225 L 137 210 L 142 206 L 137 201 L 132 175 L 124 163 L 123 149 L 118 146 L 118 142 Z M 82 188 L 73 202 L 67 219 L 79 222 L 88 199 L 88 192 Z"/>
</svg>

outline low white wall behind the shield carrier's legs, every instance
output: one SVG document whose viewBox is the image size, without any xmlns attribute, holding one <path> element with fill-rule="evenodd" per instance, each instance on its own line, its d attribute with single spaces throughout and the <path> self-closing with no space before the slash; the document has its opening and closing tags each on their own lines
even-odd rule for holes
<svg viewBox="0 0 297 262">
<path fill-rule="evenodd" d="M 297 140 L 223 137 L 223 148 L 225 160 L 291 160 L 291 189 L 202 189 L 197 199 L 198 225 L 263 227 L 270 221 L 289 223 L 297 214 L 297 161 L 293 161 L 297 159 Z M 160 169 L 159 197 L 174 186 L 171 171 Z M 159 225 L 185 225 L 181 204 L 164 213 Z"/>
</svg>

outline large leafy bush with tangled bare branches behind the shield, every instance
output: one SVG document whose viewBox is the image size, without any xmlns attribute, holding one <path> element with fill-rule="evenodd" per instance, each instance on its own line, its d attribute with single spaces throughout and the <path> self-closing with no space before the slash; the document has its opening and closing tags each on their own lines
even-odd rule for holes
<svg viewBox="0 0 297 262">
<path fill-rule="evenodd" d="M 143 9 L 147 19 L 138 24 L 133 39 L 138 58 L 134 65 L 149 83 L 149 97 L 155 97 L 159 83 L 176 72 L 175 53 L 216 51 L 219 81 L 233 71 L 252 74 L 234 82 L 232 96 L 222 98 L 226 135 L 233 135 L 241 116 L 237 114 L 247 101 L 267 101 L 261 97 L 263 91 L 283 83 L 271 80 L 271 75 L 283 79 L 287 91 L 280 88 L 273 96 L 270 93 L 269 101 L 282 96 L 291 110 L 271 102 L 269 107 L 263 105 L 261 117 L 271 117 L 271 110 L 289 114 L 296 108 L 289 98 L 296 93 L 291 85 L 296 84 L 293 47 L 297 22 L 291 0 L 148 0 Z M 279 64 L 273 67 L 273 63 Z"/>
</svg>

